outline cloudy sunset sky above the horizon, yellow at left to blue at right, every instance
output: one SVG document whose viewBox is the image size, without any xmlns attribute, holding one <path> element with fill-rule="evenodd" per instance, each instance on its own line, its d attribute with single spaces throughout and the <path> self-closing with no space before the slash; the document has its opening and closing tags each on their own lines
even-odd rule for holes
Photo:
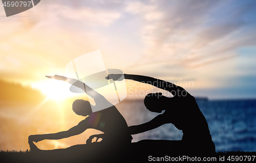
<svg viewBox="0 0 256 163">
<path fill-rule="evenodd" d="M 106 68 L 193 81 L 194 96 L 256 98 L 255 17 L 247 0 L 43 0 L 10 17 L 0 5 L 0 79 L 48 95 L 68 90 L 45 76 L 100 50 Z"/>
</svg>

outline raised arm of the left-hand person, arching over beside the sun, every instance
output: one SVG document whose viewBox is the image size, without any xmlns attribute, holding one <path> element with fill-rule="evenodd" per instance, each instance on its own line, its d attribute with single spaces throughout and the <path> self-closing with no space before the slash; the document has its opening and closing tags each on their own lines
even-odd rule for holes
<svg viewBox="0 0 256 163">
<path fill-rule="evenodd" d="M 89 95 L 90 97 L 92 97 L 93 99 L 97 100 L 97 99 L 105 99 L 102 95 L 100 95 L 97 91 L 95 91 L 94 89 L 92 89 L 91 87 L 89 87 L 88 85 L 86 85 L 85 83 L 76 80 L 76 79 L 72 79 L 72 78 L 67 78 L 64 76 L 59 76 L 59 75 L 55 75 L 55 76 L 46 76 L 47 78 L 50 79 L 56 79 L 56 80 L 62 80 L 65 81 L 67 83 L 70 83 L 80 89 L 82 89 L 84 92 L 87 93 L 87 95 Z"/>
</svg>

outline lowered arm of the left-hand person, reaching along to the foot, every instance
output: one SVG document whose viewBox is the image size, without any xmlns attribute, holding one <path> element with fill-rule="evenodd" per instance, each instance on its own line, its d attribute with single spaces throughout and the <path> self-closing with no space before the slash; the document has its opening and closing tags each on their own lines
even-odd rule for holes
<svg viewBox="0 0 256 163">
<path fill-rule="evenodd" d="M 57 133 L 50 133 L 50 134 L 38 134 L 38 135 L 30 135 L 29 141 L 33 142 L 39 142 L 44 139 L 61 139 L 61 138 L 67 138 L 70 136 L 78 135 L 85 131 L 86 129 L 91 128 L 88 124 L 88 119 L 82 120 L 79 122 L 78 125 L 72 127 L 71 129 L 67 131 L 61 131 Z"/>
</svg>

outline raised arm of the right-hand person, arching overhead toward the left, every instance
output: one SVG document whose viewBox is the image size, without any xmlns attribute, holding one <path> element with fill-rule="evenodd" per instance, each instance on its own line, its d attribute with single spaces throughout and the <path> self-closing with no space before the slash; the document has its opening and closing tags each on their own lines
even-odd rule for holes
<svg viewBox="0 0 256 163">
<path fill-rule="evenodd" d="M 147 77 L 147 76 L 142 76 L 142 75 L 132 75 L 132 74 L 123 74 L 124 79 L 129 79 L 129 80 L 134 80 L 138 81 L 141 83 L 146 83 L 146 84 L 151 84 L 155 87 L 158 87 L 160 89 L 167 90 L 169 92 L 171 91 L 183 91 L 182 87 L 175 85 L 173 83 L 161 80 L 161 79 L 156 79 L 152 77 Z M 106 79 L 113 79 L 113 80 L 119 80 L 122 74 L 110 74 Z"/>
</svg>

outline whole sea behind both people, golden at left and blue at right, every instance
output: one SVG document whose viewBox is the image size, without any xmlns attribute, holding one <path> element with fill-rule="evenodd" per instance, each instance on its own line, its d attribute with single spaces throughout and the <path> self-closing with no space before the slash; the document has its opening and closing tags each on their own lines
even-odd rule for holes
<svg viewBox="0 0 256 163">
<path fill-rule="evenodd" d="M 208 123 L 216 152 L 256 151 L 256 99 L 196 100 Z M 48 101 L 37 107 L 25 104 L 4 106 L 0 103 L 0 149 L 26 151 L 29 148 L 27 139 L 30 134 L 55 133 L 77 125 L 83 117 L 80 118 L 72 111 L 72 102 Z M 125 99 L 115 106 L 128 126 L 146 123 L 159 114 L 148 111 L 141 99 Z M 74 139 L 42 141 L 41 146 L 40 143 L 37 144 L 42 149 L 67 148 L 85 143 L 83 136 L 89 137 L 90 132 L 83 134 L 82 137 L 74 136 Z M 132 142 L 143 139 L 181 140 L 182 135 L 182 131 L 173 124 L 164 124 L 156 129 L 132 135 Z"/>
</svg>

